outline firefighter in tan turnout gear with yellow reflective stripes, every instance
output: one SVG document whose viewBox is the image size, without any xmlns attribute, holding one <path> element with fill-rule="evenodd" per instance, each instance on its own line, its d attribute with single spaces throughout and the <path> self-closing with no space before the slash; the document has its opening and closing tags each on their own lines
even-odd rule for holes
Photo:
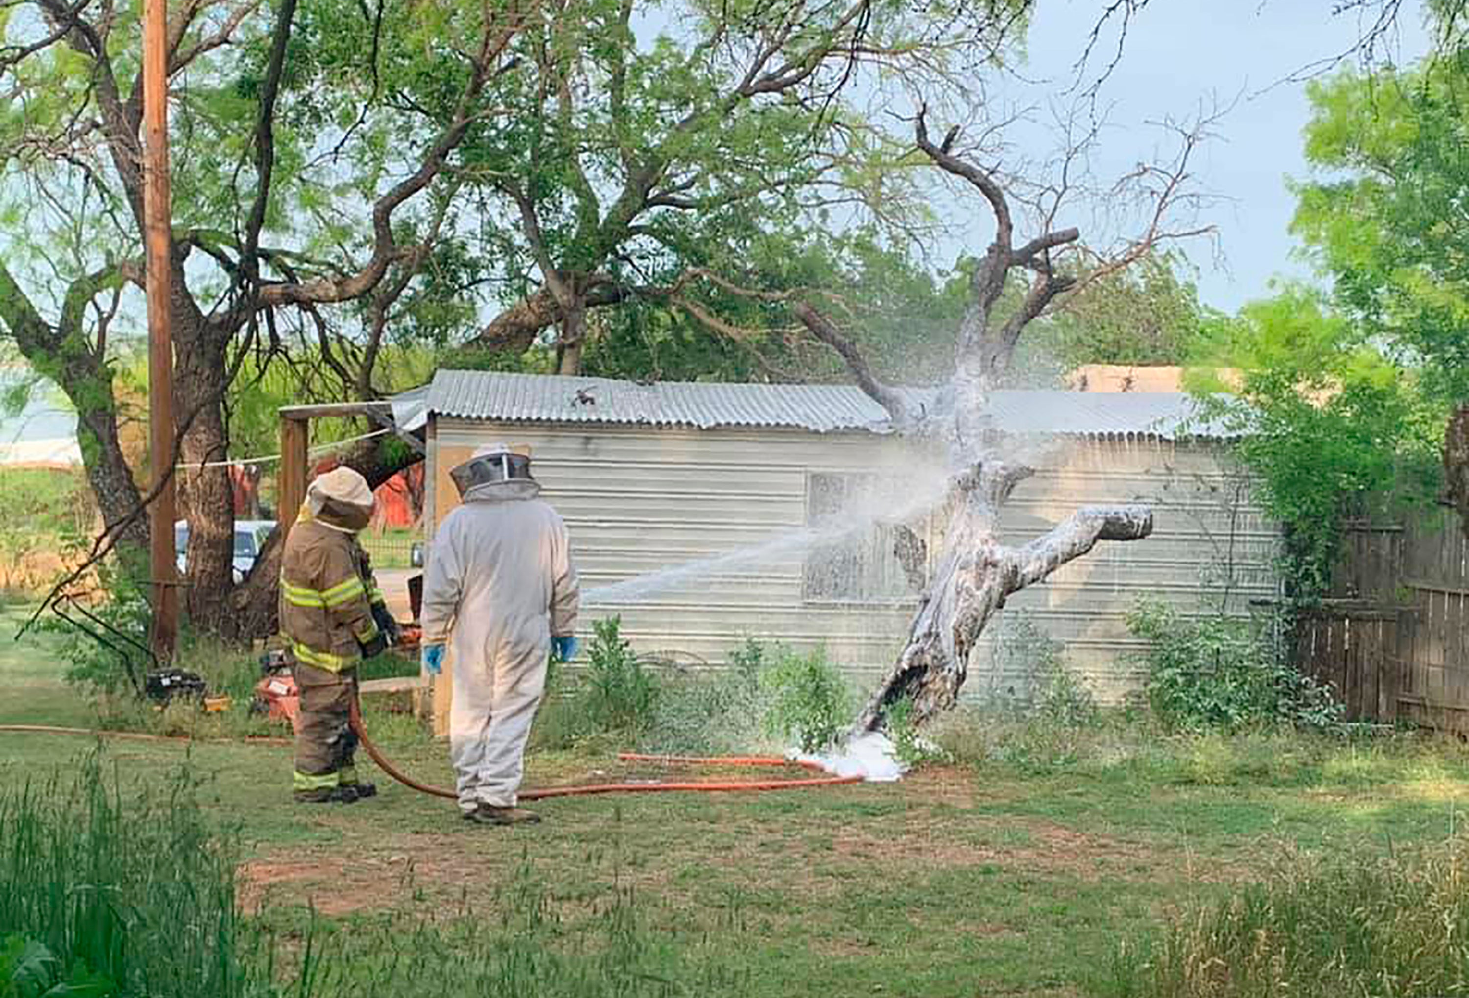
<svg viewBox="0 0 1469 998">
<path fill-rule="evenodd" d="M 294 780 L 301 803 L 351 804 L 376 792 L 357 779 L 348 723 L 357 664 L 398 636 L 357 542 L 372 513 L 361 475 L 350 467 L 320 475 L 281 553 L 281 632 L 301 695 Z"/>
</svg>

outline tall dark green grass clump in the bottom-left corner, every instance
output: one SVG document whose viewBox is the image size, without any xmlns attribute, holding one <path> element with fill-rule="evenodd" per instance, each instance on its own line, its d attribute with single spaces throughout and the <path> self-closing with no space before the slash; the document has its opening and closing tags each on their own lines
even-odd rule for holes
<svg viewBox="0 0 1469 998">
<path fill-rule="evenodd" d="M 259 941 L 235 914 L 234 869 L 182 773 L 123 794 L 91 755 L 71 778 L 0 794 L 0 936 L 120 994 L 261 994 L 241 960 Z"/>
</svg>

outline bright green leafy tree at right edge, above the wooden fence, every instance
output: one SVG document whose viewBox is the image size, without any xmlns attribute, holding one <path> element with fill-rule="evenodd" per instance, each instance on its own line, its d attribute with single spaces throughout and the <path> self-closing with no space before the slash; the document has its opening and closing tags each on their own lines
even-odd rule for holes
<svg viewBox="0 0 1469 998">
<path fill-rule="evenodd" d="M 1351 322 L 1456 410 L 1443 451 L 1469 529 L 1469 49 L 1310 87 L 1296 231 Z"/>
</svg>

